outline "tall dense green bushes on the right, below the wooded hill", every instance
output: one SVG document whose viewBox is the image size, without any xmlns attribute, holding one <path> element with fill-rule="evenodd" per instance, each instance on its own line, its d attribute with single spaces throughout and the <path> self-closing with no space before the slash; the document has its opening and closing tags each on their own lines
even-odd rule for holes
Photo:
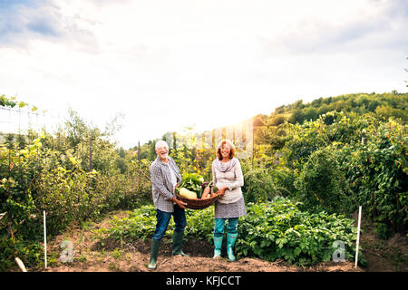
<svg viewBox="0 0 408 290">
<path fill-rule="evenodd" d="M 406 228 L 406 125 L 328 112 L 291 131 L 287 164 L 307 206 L 350 213 L 362 205 L 384 238 Z"/>
</svg>

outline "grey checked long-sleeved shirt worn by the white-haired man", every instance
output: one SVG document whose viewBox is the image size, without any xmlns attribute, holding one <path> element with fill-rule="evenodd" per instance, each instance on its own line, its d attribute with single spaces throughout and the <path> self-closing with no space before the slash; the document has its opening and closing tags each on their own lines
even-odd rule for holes
<svg viewBox="0 0 408 290">
<path fill-rule="evenodd" d="M 180 169 L 177 167 L 176 162 L 168 157 L 168 163 L 166 164 L 157 157 L 151 163 L 151 190 L 154 206 L 161 211 L 173 212 L 172 198 L 175 196 L 175 192 L 170 181 L 170 168 L 168 165 L 176 173 L 177 182 L 181 181 Z"/>
</svg>

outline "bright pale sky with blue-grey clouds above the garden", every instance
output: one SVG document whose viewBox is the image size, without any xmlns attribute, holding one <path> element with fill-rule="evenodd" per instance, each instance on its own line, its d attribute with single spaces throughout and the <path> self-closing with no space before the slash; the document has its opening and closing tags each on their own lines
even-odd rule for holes
<svg viewBox="0 0 408 290">
<path fill-rule="evenodd" d="M 407 92 L 405 0 L 0 0 L 0 95 L 128 149 L 283 104 Z M 5 111 L 0 111 L 5 116 Z"/>
</svg>

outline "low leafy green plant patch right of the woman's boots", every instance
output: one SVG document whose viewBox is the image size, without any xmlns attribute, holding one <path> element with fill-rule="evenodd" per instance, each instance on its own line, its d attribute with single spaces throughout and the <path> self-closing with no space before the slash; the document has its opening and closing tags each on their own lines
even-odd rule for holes
<svg viewBox="0 0 408 290">
<path fill-rule="evenodd" d="M 329 261 L 333 243 L 345 243 L 345 259 L 355 252 L 354 220 L 325 211 L 309 213 L 299 203 L 276 198 L 269 204 L 248 205 L 248 215 L 238 227 L 238 256 L 257 256 L 268 261 L 277 258 L 299 265 Z M 361 257 L 364 263 L 364 257 Z"/>
</svg>

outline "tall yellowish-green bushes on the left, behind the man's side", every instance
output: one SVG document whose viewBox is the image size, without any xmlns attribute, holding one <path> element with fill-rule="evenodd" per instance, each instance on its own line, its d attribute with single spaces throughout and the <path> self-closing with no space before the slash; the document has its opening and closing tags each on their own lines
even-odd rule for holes
<svg viewBox="0 0 408 290">
<path fill-rule="evenodd" d="M 83 126 L 70 125 L 69 134 L 66 128 L 54 136 L 28 131 L 26 136 L 8 134 L 2 141 L 0 270 L 15 266 L 15 256 L 26 266 L 41 262 L 44 210 L 47 234 L 53 236 L 72 223 L 149 202 L 149 161 L 130 158 L 121 173 L 116 163 L 120 156 L 106 134 L 74 117 L 73 123 Z"/>
</svg>

